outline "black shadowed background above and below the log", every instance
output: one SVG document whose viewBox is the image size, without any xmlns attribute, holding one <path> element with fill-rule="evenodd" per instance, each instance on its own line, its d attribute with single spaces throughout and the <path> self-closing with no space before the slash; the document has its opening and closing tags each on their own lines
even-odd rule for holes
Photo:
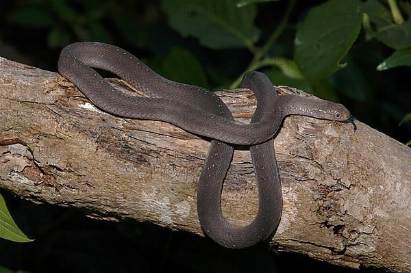
<svg viewBox="0 0 411 273">
<path fill-rule="evenodd" d="M 271 52 L 292 58 L 296 27 L 308 10 L 319 3 L 323 1 L 297 1 L 288 25 Z M 275 29 L 286 5 L 287 1 L 258 5 L 256 25 L 262 34 L 257 45 L 261 46 Z M 196 38 L 183 38 L 169 26 L 161 1 L 1 1 L 0 23 L 0 56 L 51 71 L 57 71 L 58 56 L 64 45 L 92 40 L 116 44 L 134 53 L 164 77 L 216 90 L 228 88 L 252 58 L 247 49 L 208 49 Z M 175 48 L 194 55 L 203 77 L 190 79 L 170 68 L 171 51 Z M 375 70 L 392 52 L 377 40 L 366 40 L 361 33 L 345 57 L 348 66 L 328 79 L 334 88 L 333 94 L 322 96 L 334 97 L 358 120 L 405 143 L 411 139 L 410 122 L 401 127 L 398 124 L 411 112 L 410 68 Z M 353 87 L 364 90 L 361 97 L 349 92 Z M 316 90 L 313 92 L 319 94 Z M 152 224 L 92 220 L 82 211 L 34 205 L 9 192 L 1 191 L 1 194 L 18 226 L 36 239 L 28 244 L 0 239 L 0 266 L 10 270 L 294 272 L 302 268 L 316 272 L 355 271 L 308 257 L 270 252 L 258 246 L 249 250 L 227 250 L 210 239 Z M 8 271 L 0 268 L 0 272 Z"/>
</svg>

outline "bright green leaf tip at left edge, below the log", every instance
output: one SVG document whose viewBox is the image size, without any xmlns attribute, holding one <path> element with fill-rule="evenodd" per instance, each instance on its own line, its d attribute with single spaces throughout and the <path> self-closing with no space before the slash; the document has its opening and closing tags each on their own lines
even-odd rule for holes
<svg viewBox="0 0 411 273">
<path fill-rule="evenodd" d="M 0 237 L 3 239 L 8 239 L 14 242 L 32 242 L 32 239 L 27 238 L 27 236 L 18 229 L 18 226 L 14 222 L 12 216 L 5 206 L 5 201 L 3 196 L 0 194 Z"/>
</svg>

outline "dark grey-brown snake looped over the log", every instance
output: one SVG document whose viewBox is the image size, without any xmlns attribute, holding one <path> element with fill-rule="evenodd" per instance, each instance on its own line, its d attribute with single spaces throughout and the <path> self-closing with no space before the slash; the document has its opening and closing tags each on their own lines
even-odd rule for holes
<svg viewBox="0 0 411 273">
<path fill-rule="evenodd" d="M 147 96 L 125 94 L 94 68 L 117 75 Z M 227 248 L 247 248 L 269 239 L 282 216 L 282 187 L 273 139 L 286 116 L 302 115 L 351 122 L 349 110 L 299 94 L 278 95 L 270 79 L 258 71 L 245 73 L 241 88 L 257 99 L 249 124 L 234 120 L 214 92 L 166 79 L 136 56 L 112 44 L 75 42 L 60 53 L 58 72 L 71 81 L 93 105 L 114 116 L 171 123 L 210 140 L 208 156 L 197 185 L 197 215 L 202 230 Z M 237 145 L 249 146 L 258 185 L 258 212 L 247 225 L 232 224 L 223 216 L 221 193 Z"/>
</svg>

